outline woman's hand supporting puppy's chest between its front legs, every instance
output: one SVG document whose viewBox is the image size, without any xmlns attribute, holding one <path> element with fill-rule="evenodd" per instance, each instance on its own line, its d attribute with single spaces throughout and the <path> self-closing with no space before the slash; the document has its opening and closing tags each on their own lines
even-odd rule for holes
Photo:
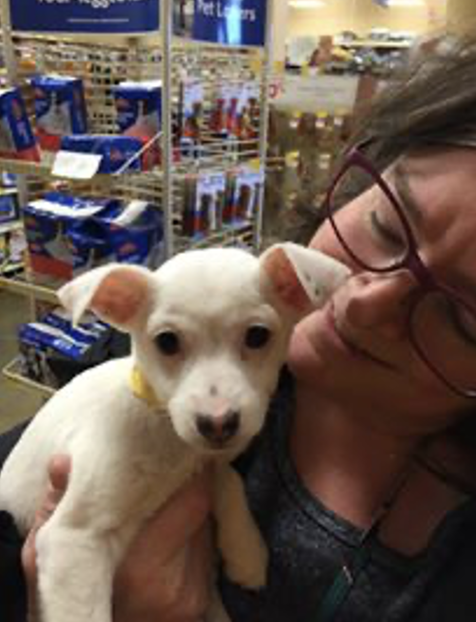
<svg viewBox="0 0 476 622">
<path fill-rule="evenodd" d="M 211 570 L 211 478 L 193 478 L 147 521 L 114 582 L 114 620 L 198 619 Z"/>
</svg>

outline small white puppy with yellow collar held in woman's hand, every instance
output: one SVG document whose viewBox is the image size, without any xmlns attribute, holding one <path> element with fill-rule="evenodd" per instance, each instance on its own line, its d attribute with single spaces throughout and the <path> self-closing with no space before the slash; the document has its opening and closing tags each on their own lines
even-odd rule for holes
<svg viewBox="0 0 476 622">
<path fill-rule="evenodd" d="M 349 271 L 278 244 L 175 256 L 157 272 L 113 264 L 60 290 L 130 333 L 132 355 L 81 374 L 40 410 L 0 475 L 0 509 L 22 532 L 68 453 L 68 489 L 37 534 L 43 622 L 108 622 L 112 577 L 141 524 L 204 462 L 216 460 L 217 545 L 232 580 L 265 583 L 267 552 L 227 465 L 259 432 L 293 325 Z"/>
</svg>

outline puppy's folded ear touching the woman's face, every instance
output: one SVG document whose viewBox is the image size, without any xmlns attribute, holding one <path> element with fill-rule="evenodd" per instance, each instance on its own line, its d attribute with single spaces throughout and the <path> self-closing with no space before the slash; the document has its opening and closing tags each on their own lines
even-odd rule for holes
<svg viewBox="0 0 476 622">
<path fill-rule="evenodd" d="M 350 276 L 344 264 L 299 244 L 274 244 L 260 257 L 260 271 L 278 303 L 298 321 L 323 307 Z"/>
</svg>

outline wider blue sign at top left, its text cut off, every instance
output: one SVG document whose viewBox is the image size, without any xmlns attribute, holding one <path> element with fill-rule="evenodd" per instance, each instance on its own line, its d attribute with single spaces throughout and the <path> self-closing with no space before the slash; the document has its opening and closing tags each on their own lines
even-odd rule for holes
<svg viewBox="0 0 476 622">
<path fill-rule="evenodd" d="M 10 0 L 14 30 L 133 33 L 158 30 L 159 0 Z"/>
</svg>

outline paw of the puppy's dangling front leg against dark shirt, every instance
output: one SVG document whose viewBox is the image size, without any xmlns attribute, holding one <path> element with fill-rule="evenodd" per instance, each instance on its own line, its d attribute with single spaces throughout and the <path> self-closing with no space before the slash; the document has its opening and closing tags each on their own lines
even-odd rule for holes
<svg viewBox="0 0 476 622">
<path fill-rule="evenodd" d="M 234 559 L 226 560 L 225 572 L 232 582 L 250 590 L 259 590 L 266 585 L 268 549 L 261 536 L 252 544 L 242 547 Z"/>
</svg>

